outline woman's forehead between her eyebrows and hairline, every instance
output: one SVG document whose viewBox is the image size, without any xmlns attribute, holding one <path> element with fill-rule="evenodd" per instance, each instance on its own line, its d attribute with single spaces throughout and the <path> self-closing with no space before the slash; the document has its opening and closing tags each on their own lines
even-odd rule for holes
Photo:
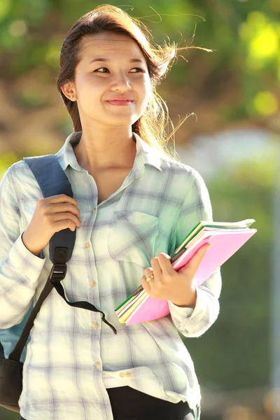
<svg viewBox="0 0 280 420">
<path fill-rule="evenodd" d="M 145 59 L 137 42 L 125 34 L 103 32 L 102 34 L 84 36 L 79 50 L 81 59 L 92 58 L 95 55 L 100 56 L 100 54 L 108 59 L 119 55 L 128 58 L 133 55 L 134 58 Z"/>
</svg>

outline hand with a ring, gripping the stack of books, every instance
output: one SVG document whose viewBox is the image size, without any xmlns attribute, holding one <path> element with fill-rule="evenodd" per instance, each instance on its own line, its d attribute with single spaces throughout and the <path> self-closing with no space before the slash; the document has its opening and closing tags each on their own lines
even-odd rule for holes
<svg viewBox="0 0 280 420">
<path fill-rule="evenodd" d="M 194 308 L 197 293 L 193 279 L 210 246 L 211 244 L 204 244 L 178 272 L 172 267 L 169 255 L 159 253 L 152 258 L 152 267 L 146 268 L 145 275 L 141 278 L 146 293 L 155 299 L 169 300 L 177 306 Z M 147 281 L 150 276 L 153 278 Z"/>
</svg>

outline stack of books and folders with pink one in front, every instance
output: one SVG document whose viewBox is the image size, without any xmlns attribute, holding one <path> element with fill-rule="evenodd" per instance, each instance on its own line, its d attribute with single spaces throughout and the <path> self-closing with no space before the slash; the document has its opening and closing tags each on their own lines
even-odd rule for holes
<svg viewBox="0 0 280 420">
<path fill-rule="evenodd" d="M 254 222 L 253 219 L 247 219 L 236 223 L 198 223 L 172 255 L 172 267 L 178 271 L 190 261 L 201 246 L 212 244 L 195 274 L 194 284 L 200 286 L 257 232 L 256 229 L 250 229 Z M 120 323 L 126 325 L 153 321 L 170 313 L 167 300 L 150 297 L 142 286 L 127 297 L 115 311 Z"/>
</svg>

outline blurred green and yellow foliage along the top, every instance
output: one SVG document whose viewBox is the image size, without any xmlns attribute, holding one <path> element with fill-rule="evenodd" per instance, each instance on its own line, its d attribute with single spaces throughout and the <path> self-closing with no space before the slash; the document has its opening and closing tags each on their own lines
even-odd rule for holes
<svg viewBox="0 0 280 420">
<path fill-rule="evenodd" d="M 3 77 L 11 79 L 36 69 L 47 72 L 45 76 L 53 80 L 66 31 L 98 4 L 89 0 L 1 0 Z M 117 1 L 111 4 L 119 6 Z M 213 95 L 215 91 L 217 94 L 225 85 L 232 83 L 234 87 L 238 83 L 240 91 L 235 106 L 225 112 L 226 118 L 235 120 L 272 115 L 279 109 L 275 92 L 280 80 L 279 4 L 278 0 L 156 0 L 151 5 L 148 1 L 134 0 L 121 7 L 148 26 L 155 43 L 162 43 L 162 34 L 166 34 L 165 38 L 168 36 L 179 45 L 193 43 L 216 50 L 211 56 L 195 53 L 195 61 L 202 61 L 204 71 L 207 70 L 203 85 L 196 67 L 183 59 L 179 59 L 176 72 L 169 77 L 177 85 L 187 80 L 188 84 L 200 87 L 197 93 L 202 96 Z M 186 59 L 190 54 L 182 53 Z M 31 104 L 37 106 L 38 102 L 32 99 Z"/>
</svg>

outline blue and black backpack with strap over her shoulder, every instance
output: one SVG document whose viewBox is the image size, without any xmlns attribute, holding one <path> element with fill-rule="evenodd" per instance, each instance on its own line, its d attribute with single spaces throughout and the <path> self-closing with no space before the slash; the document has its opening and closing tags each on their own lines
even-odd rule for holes
<svg viewBox="0 0 280 420">
<path fill-rule="evenodd" d="M 24 160 L 38 182 L 44 198 L 59 194 L 73 197 L 69 179 L 59 165 L 56 155 L 24 158 Z M 29 333 L 43 300 L 48 297 L 52 288 L 55 288 L 57 293 L 71 307 L 100 312 L 102 321 L 109 325 L 114 334 L 117 334 L 116 328 L 106 320 L 104 312 L 94 307 L 93 304 L 66 300 L 61 281 L 66 275 L 66 262 L 72 256 L 75 240 L 76 230 L 64 229 L 52 236 L 49 242 L 49 253 L 53 266 L 36 305 L 34 306 L 33 302 L 31 303 L 21 323 L 0 330 L 0 406 L 2 407 L 20 412 L 18 400 L 22 393 L 22 367 L 25 363 L 27 344 L 30 340 Z"/>
</svg>

